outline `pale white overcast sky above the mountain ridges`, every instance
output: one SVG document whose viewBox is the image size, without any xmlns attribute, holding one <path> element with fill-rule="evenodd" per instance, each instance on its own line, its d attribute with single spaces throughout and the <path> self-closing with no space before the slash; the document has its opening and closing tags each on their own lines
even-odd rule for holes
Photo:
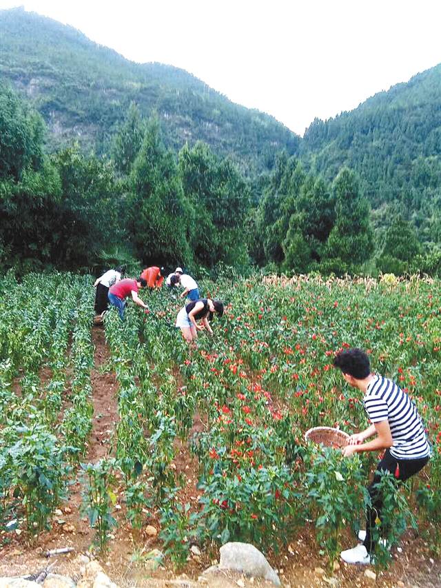
<svg viewBox="0 0 441 588">
<path fill-rule="evenodd" d="M 440 0 L 0 0 L 19 5 L 298 134 L 441 62 Z"/>
</svg>

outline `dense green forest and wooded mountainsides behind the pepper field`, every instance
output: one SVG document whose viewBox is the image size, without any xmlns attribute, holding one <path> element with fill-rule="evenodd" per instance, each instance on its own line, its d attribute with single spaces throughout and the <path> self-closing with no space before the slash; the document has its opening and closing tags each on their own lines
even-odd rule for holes
<svg viewBox="0 0 441 588">
<path fill-rule="evenodd" d="M 182 70 L 0 17 L 4 268 L 441 273 L 441 66 L 300 140 Z"/>
</svg>

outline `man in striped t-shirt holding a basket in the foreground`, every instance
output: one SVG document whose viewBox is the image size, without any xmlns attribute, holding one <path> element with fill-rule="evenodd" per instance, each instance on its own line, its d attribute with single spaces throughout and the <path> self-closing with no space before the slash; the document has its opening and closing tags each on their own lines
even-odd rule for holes
<svg viewBox="0 0 441 588">
<path fill-rule="evenodd" d="M 362 349 L 347 349 L 334 358 L 334 367 L 341 369 L 347 383 L 364 394 L 363 404 L 370 427 L 351 435 L 349 445 L 342 449 L 349 457 L 354 453 L 378 452 L 385 449 L 384 456 L 377 465 L 378 472 L 391 472 L 398 480 L 407 480 L 427 464 L 431 449 L 424 425 L 416 405 L 396 383 L 371 374 L 369 357 Z M 370 437 L 375 438 L 367 441 Z M 369 564 L 375 549 L 372 531 L 376 519 L 381 519 L 382 496 L 376 485 L 380 475 L 375 474 L 368 487 L 371 507 L 367 509 L 366 534 L 358 535 L 362 544 L 342 551 L 340 557 L 347 563 Z"/>
</svg>

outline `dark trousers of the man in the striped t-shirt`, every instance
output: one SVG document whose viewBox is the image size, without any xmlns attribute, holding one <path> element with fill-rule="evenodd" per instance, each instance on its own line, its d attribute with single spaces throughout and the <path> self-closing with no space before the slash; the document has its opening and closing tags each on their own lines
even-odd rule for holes
<svg viewBox="0 0 441 588">
<path fill-rule="evenodd" d="M 384 456 L 380 463 L 377 465 L 377 470 L 379 472 L 391 472 L 398 480 L 407 480 L 413 476 L 413 474 L 417 474 L 420 469 L 424 467 L 429 461 L 429 457 L 424 457 L 422 459 L 397 459 L 391 455 L 389 449 L 386 449 L 384 452 Z M 398 469 L 397 469 L 398 466 Z M 372 539 L 372 531 L 375 527 L 375 521 L 378 518 L 381 520 L 381 509 L 382 509 L 382 496 L 380 492 L 378 492 L 378 488 L 376 485 L 380 482 L 380 475 L 375 474 L 373 477 L 371 485 L 367 487 L 369 491 L 369 496 L 371 496 L 371 507 L 367 509 L 366 512 L 366 538 L 363 542 L 365 545 L 367 552 L 370 553 L 376 547 L 376 542 Z"/>
</svg>

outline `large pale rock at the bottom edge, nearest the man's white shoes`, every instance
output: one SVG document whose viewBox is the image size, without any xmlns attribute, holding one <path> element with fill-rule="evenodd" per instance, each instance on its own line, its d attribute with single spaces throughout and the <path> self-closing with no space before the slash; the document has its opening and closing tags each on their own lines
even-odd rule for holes
<svg viewBox="0 0 441 588">
<path fill-rule="evenodd" d="M 220 547 L 219 569 L 240 571 L 246 576 L 265 578 L 280 586 L 278 575 L 265 556 L 251 543 L 230 542 Z"/>
</svg>

